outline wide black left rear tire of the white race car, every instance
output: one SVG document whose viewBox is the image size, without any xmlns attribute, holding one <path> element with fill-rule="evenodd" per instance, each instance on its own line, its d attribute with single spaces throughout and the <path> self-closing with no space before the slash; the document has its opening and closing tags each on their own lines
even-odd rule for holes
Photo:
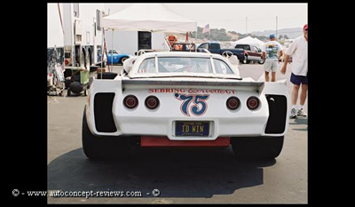
<svg viewBox="0 0 355 207">
<path fill-rule="evenodd" d="M 124 137 L 95 136 L 91 133 L 83 112 L 83 152 L 89 159 L 122 157 L 129 152 L 128 139 Z"/>
</svg>

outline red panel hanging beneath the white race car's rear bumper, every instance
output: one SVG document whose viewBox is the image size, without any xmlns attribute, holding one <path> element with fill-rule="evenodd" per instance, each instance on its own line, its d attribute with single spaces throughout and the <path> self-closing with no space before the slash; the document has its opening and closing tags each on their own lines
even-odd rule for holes
<svg viewBox="0 0 355 207">
<path fill-rule="evenodd" d="M 220 137 L 216 140 L 170 140 L 168 137 L 142 136 L 141 147 L 228 147 L 230 138 Z"/>
</svg>

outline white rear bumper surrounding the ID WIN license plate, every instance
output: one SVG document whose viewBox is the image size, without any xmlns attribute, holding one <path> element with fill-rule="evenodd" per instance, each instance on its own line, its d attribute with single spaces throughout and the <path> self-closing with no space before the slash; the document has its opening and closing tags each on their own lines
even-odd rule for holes
<svg viewBox="0 0 355 207">
<path fill-rule="evenodd" d="M 170 140 L 215 140 L 218 137 L 262 136 L 268 115 L 239 118 L 182 119 L 181 117 L 130 117 L 114 115 L 117 135 L 166 136 Z M 209 122 L 209 136 L 176 136 L 177 121 Z M 154 124 L 152 124 L 154 123 Z"/>
</svg>

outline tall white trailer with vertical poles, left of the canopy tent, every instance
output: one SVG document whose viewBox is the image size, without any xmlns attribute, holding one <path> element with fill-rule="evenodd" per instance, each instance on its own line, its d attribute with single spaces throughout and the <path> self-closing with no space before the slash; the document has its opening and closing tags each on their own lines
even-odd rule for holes
<svg viewBox="0 0 355 207">
<path fill-rule="evenodd" d="M 101 64 L 100 20 L 104 4 L 63 4 L 65 66 L 90 69 Z"/>
</svg>

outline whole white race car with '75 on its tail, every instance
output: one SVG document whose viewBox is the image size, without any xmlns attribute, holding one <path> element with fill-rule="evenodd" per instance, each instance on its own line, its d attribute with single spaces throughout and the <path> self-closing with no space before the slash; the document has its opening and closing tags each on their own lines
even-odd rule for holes
<svg viewBox="0 0 355 207">
<path fill-rule="evenodd" d="M 236 57 L 149 52 L 124 73 L 94 79 L 83 114 L 83 151 L 229 147 L 237 157 L 275 158 L 288 129 L 286 80 L 241 78 Z"/>
</svg>

